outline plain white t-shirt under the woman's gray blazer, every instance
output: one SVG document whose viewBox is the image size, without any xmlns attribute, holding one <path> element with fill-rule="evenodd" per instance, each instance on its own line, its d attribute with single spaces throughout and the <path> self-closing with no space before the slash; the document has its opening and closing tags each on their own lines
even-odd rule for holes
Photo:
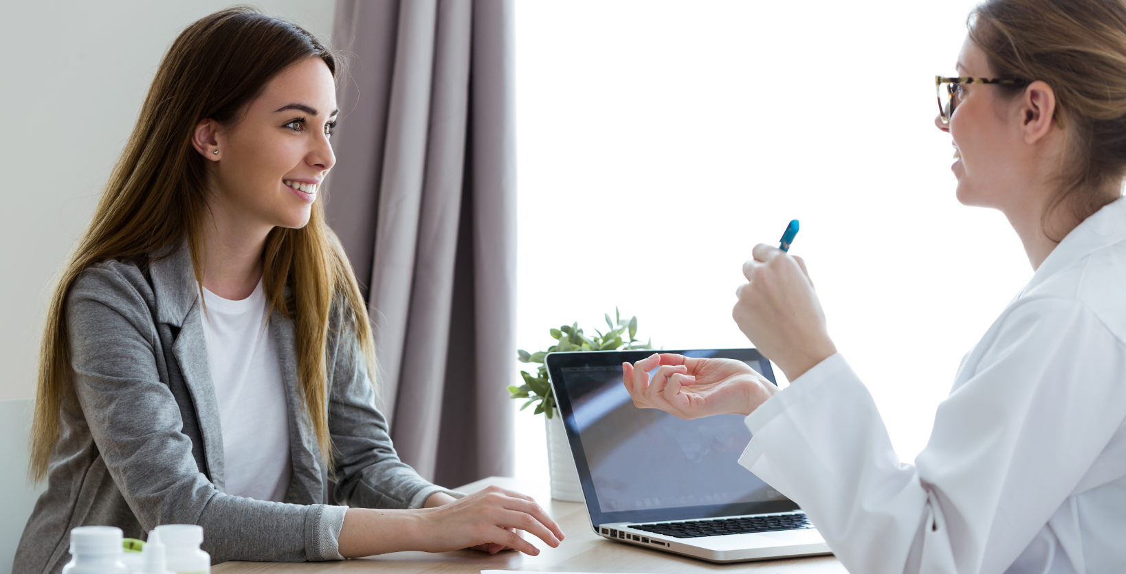
<svg viewBox="0 0 1126 574">
<path fill-rule="evenodd" d="M 293 465 L 266 292 L 261 281 L 242 301 L 203 292 L 204 340 L 223 428 L 226 493 L 282 502 Z"/>
</svg>

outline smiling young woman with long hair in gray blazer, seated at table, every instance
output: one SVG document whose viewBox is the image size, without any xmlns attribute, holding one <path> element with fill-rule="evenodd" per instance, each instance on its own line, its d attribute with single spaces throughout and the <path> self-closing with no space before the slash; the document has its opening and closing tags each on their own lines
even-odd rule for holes
<svg viewBox="0 0 1126 574">
<path fill-rule="evenodd" d="M 462 497 L 395 455 L 320 199 L 338 64 L 248 8 L 164 55 L 51 302 L 32 452 L 47 488 L 16 572 L 60 572 L 86 524 L 200 524 L 215 562 L 538 554 L 517 529 L 558 545 L 530 497 Z"/>
</svg>

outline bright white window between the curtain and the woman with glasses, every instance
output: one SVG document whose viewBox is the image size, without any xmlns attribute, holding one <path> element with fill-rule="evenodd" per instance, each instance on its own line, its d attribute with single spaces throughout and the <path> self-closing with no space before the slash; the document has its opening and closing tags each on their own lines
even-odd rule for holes
<svg viewBox="0 0 1126 574">
<path fill-rule="evenodd" d="M 912 460 L 1031 276 L 999 213 L 957 203 L 933 125 L 974 3 L 518 1 L 520 348 L 615 305 L 668 349 L 749 346 L 742 262 L 797 218 L 792 253 Z M 516 416 L 517 475 L 544 479 L 542 418 Z"/>
</svg>

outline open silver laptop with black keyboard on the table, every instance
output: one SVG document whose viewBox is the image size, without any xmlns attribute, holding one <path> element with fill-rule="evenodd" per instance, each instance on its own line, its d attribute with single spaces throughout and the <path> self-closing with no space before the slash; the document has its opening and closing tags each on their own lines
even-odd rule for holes
<svg viewBox="0 0 1126 574">
<path fill-rule="evenodd" d="M 777 384 L 754 349 L 660 352 L 740 360 Z M 546 357 L 595 532 L 717 563 L 831 554 L 797 504 L 739 465 L 751 440 L 741 415 L 685 421 L 634 406 L 622 364 L 652 353 Z"/>
</svg>

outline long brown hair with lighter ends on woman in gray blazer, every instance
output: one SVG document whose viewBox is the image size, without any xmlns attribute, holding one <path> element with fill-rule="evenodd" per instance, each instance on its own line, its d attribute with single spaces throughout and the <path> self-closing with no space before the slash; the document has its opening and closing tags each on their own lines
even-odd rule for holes
<svg viewBox="0 0 1126 574">
<path fill-rule="evenodd" d="M 267 82 L 310 57 L 321 59 L 336 77 L 338 57 L 312 34 L 247 7 L 191 24 L 164 54 L 133 134 L 51 299 L 32 431 L 30 473 L 35 479 L 47 474 L 59 439 L 61 407 L 74 393 L 64 305 L 75 278 L 93 263 L 143 259 L 187 241 L 196 280 L 202 285 L 207 171 L 205 160 L 191 146 L 193 129 L 208 118 L 238 122 Z M 356 277 L 340 242 L 324 223 L 322 204 L 313 204 L 304 227 L 276 227 L 269 233 L 262 267 L 271 308 L 294 321 L 304 406 L 331 467 L 325 340 L 334 302 L 345 303 L 345 319 L 355 324 L 372 377 L 375 348 Z M 288 299 L 286 287 L 292 294 Z"/>
</svg>

